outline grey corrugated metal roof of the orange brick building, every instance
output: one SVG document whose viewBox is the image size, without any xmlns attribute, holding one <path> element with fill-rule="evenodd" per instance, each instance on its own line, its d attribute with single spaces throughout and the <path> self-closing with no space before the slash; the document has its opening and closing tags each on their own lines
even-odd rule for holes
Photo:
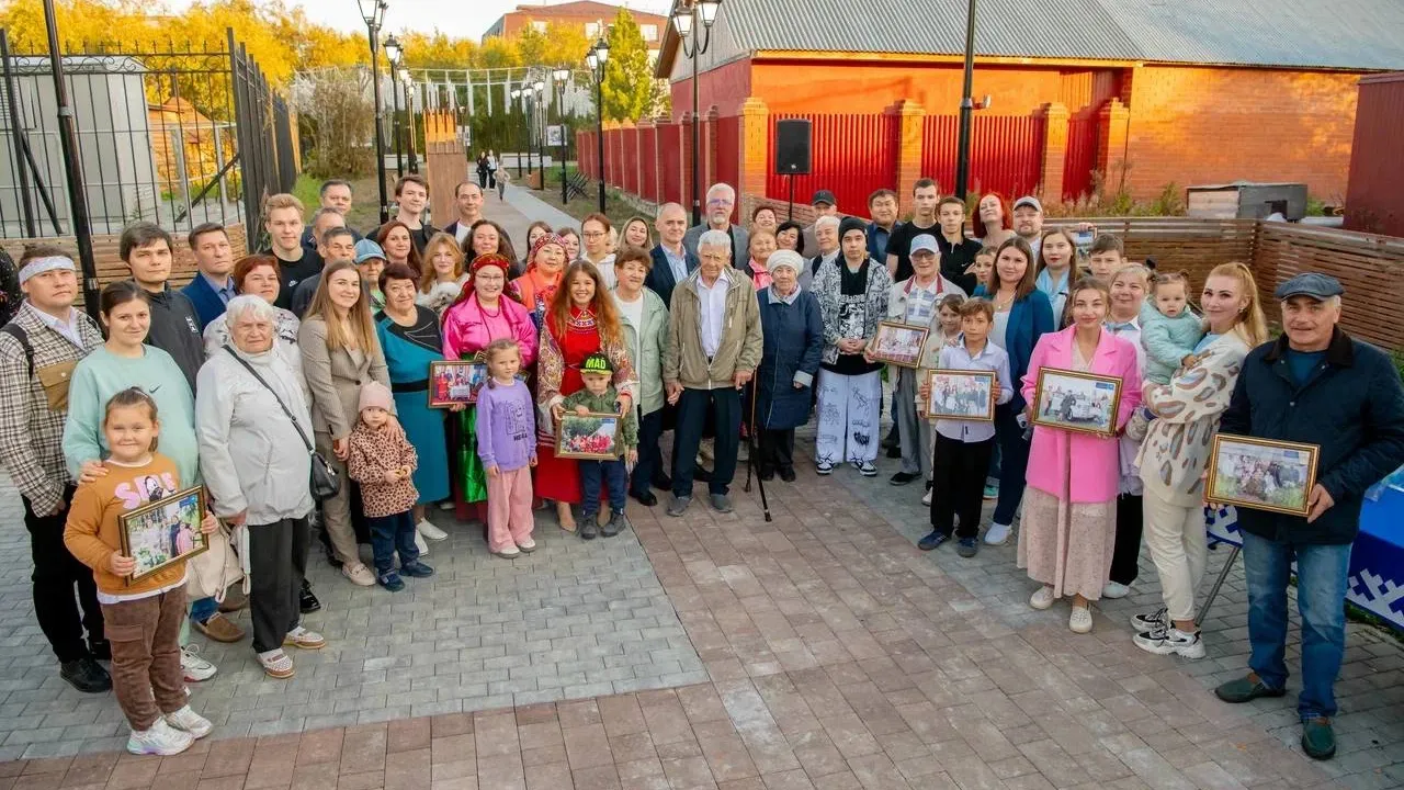
<svg viewBox="0 0 1404 790">
<path fill-rule="evenodd" d="M 965 28 L 966 0 L 724 0 L 702 67 L 755 51 L 958 55 Z M 976 53 L 1404 69 L 1404 0 L 979 0 Z"/>
</svg>

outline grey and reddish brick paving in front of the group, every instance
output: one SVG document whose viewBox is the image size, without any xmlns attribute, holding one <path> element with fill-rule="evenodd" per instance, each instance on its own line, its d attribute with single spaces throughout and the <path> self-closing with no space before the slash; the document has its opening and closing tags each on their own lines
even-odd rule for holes
<svg viewBox="0 0 1404 790">
<path fill-rule="evenodd" d="M 220 675 L 192 704 L 219 728 L 168 759 L 117 752 L 111 696 L 58 679 L 6 486 L 0 790 L 1404 784 L 1391 638 L 1349 627 L 1341 753 L 1314 763 L 1290 697 L 1231 707 L 1207 692 L 1243 672 L 1241 572 L 1203 661 L 1130 644 L 1126 614 L 1157 599 L 1144 559 L 1136 595 L 1078 637 L 1066 607 L 1026 606 L 1012 547 L 917 551 L 920 488 L 889 486 L 887 465 L 863 479 L 802 464 L 767 488 L 772 523 L 740 485 L 729 516 L 630 502 L 633 533 L 592 544 L 545 516 L 542 550 L 515 562 L 452 527 L 428 558 L 441 574 L 393 597 L 319 562 L 309 626 L 331 645 L 296 654 L 291 682 L 263 679 L 247 644 L 211 649 Z"/>
</svg>

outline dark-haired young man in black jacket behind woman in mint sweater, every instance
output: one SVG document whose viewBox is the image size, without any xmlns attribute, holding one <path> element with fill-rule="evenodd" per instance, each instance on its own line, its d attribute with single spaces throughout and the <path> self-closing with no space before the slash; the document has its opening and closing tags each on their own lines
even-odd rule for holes
<svg viewBox="0 0 1404 790">
<path fill-rule="evenodd" d="M 132 271 L 132 281 L 146 291 L 152 304 L 152 328 L 146 333 L 146 344 L 170 354 L 194 392 L 195 374 L 205 364 L 205 342 L 201 339 L 195 305 L 167 283 L 171 277 L 173 250 L 171 235 L 150 222 L 128 225 L 118 242 L 118 254 Z"/>
</svg>

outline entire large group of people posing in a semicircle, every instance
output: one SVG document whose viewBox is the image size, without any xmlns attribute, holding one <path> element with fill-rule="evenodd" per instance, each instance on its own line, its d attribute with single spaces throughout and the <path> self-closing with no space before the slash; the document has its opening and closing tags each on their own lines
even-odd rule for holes
<svg viewBox="0 0 1404 790">
<path fill-rule="evenodd" d="M 1269 340 L 1243 264 L 1209 274 L 1196 315 L 1186 276 L 1126 260 L 1118 239 L 1080 250 L 1033 197 L 1011 208 L 981 195 L 967 222 L 965 201 L 932 180 L 915 183 L 907 222 L 890 190 L 868 201 L 872 221 L 841 215 L 821 190 L 809 226 L 765 204 L 741 226 L 736 190 L 715 184 L 698 226 L 677 204 L 621 228 L 591 214 L 578 233 L 536 222 L 518 259 L 482 215 L 479 174 L 458 184 L 444 229 L 425 216 L 428 184 L 400 179 L 396 215 L 364 238 L 345 226 L 345 181 L 323 186 L 310 235 L 298 198 L 272 195 L 267 252 L 234 260 L 223 228 L 197 226 L 184 239 L 197 273 L 181 290 L 176 239 L 132 225 L 121 240 L 132 277 L 102 291 L 101 328 L 73 308 L 72 259 L 53 247 L 21 259 L 24 308 L 0 329 L 0 461 L 24 495 L 35 610 L 60 673 L 84 692 L 115 685 L 131 751 L 176 753 L 209 731 L 181 685 L 216 668 L 185 623 L 226 642 L 244 631 L 222 613 L 240 606 L 227 585 L 187 603 L 199 558 L 190 575 L 173 559 L 133 581 L 124 513 L 202 485 L 209 512 L 247 536 L 233 543 L 257 661 L 289 678 L 288 648 L 326 644 L 300 620 L 320 607 L 306 582 L 313 540 L 348 582 L 395 592 L 432 575 L 423 558 L 448 537 L 438 510 L 482 522 L 489 551 L 508 559 L 536 550 L 534 502 L 584 540 L 629 529 L 625 498 L 656 506 L 654 489 L 681 517 L 705 482 L 710 509 L 730 513 L 743 444 L 762 481 L 793 482 L 795 432 L 814 419 L 819 475 L 875 477 L 889 444 L 890 484 L 922 481 L 921 550 L 949 541 L 969 558 L 981 541 L 1008 543 L 1018 520 L 1029 604 L 1070 599 L 1074 633 L 1092 630 L 1094 602 L 1127 595 L 1144 538 L 1164 606 L 1133 619 L 1134 642 L 1186 658 L 1205 654 L 1195 604 L 1210 437 L 1318 444 L 1309 516 L 1240 510 L 1252 672 L 1217 693 L 1283 693 L 1296 561 L 1303 744 L 1334 752 L 1349 544 L 1365 489 L 1404 462 L 1398 375 L 1337 326 L 1337 281 L 1279 287 L 1285 333 Z M 924 332 L 914 364 L 875 344 L 893 323 Z M 475 398 L 432 408 L 445 361 L 484 374 Z M 987 377 L 988 402 L 929 413 L 949 401 L 932 399 L 935 371 Z M 1115 381 L 1111 427 L 1040 417 L 1046 371 Z M 563 430 L 601 416 L 588 436 Z M 987 526 L 984 499 L 995 500 Z M 226 527 L 201 530 L 220 540 Z"/>
</svg>

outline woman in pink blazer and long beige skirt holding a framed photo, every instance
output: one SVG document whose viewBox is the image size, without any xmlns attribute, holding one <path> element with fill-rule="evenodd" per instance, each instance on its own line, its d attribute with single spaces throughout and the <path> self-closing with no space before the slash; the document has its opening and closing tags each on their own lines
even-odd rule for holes
<svg viewBox="0 0 1404 790">
<path fill-rule="evenodd" d="M 1101 280 L 1088 277 L 1074 284 L 1068 294 L 1073 325 L 1039 339 L 1024 375 L 1031 420 L 1033 409 L 1043 408 L 1035 401 L 1040 368 L 1122 380 L 1113 433 L 1098 436 L 1039 425 L 1029 451 L 1018 565 L 1043 585 L 1029 599 L 1033 609 L 1073 596 L 1068 628 L 1077 634 L 1092 630 L 1088 602 L 1102 596 L 1111 574 L 1120 479 L 1116 434 L 1141 399 L 1136 346 L 1102 329 L 1111 302 Z"/>
</svg>

